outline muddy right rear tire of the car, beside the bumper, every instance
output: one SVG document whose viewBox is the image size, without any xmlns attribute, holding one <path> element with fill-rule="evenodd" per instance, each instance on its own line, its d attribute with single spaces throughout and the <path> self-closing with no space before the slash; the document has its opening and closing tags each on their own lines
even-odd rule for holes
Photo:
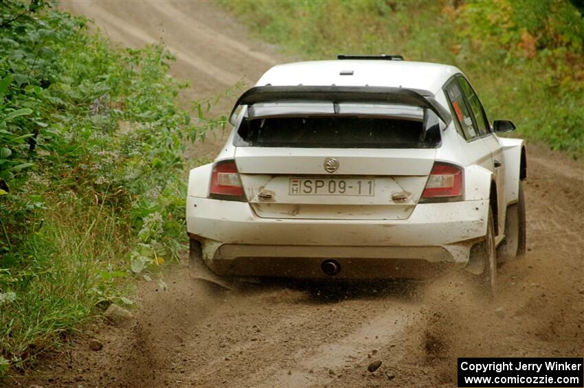
<svg viewBox="0 0 584 388">
<path fill-rule="evenodd" d="M 493 210 L 488 207 L 488 221 L 484 241 L 475 244 L 471 250 L 474 262 L 482 262 L 483 270 L 479 275 L 480 288 L 488 295 L 494 295 L 497 290 L 497 252 L 495 249 L 495 223 Z"/>
</svg>

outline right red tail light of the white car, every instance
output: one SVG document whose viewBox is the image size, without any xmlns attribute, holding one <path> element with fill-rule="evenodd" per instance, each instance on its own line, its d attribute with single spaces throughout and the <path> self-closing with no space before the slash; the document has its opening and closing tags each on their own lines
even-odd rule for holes
<svg viewBox="0 0 584 388">
<path fill-rule="evenodd" d="M 462 168 L 434 163 L 420 202 L 462 201 Z"/>
</svg>

